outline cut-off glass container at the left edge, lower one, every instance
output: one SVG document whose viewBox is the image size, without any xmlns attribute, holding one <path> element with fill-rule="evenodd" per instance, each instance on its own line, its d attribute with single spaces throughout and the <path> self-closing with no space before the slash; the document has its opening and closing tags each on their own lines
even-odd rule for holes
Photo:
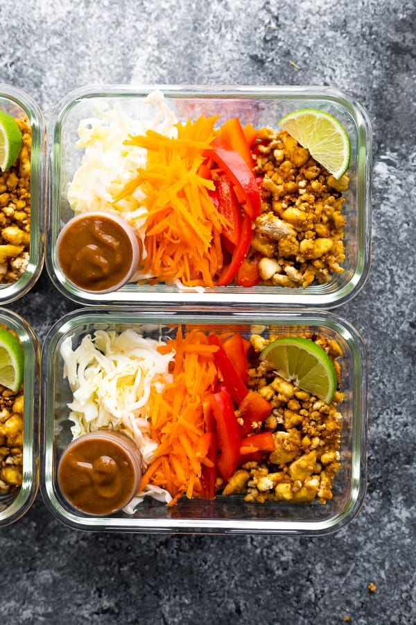
<svg viewBox="0 0 416 625">
<path fill-rule="evenodd" d="M 24 319 L 6 308 L 0 308 L 0 326 L 19 338 L 24 350 L 24 408 L 23 408 L 23 480 L 20 487 L 0 491 L 0 528 L 21 518 L 37 494 L 39 484 L 39 380 L 40 347 L 37 337 Z M 8 446 L 7 440 L 3 445 Z M 1 447 L 1 446 L 0 446 Z M 3 447 L 3 450 L 6 449 Z M 3 460 L 3 455 L 1 460 Z"/>
</svg>

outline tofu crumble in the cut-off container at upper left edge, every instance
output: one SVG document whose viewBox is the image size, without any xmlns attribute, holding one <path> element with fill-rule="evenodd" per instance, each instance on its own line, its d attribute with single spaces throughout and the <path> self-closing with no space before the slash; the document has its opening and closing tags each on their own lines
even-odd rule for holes
<svg viewBox="0 0 416 625">
<path fill-rule="evenodd" d="M 31 145 L 28 119 L 16 119 L 23 144 L 16 162 L 0 171 L 0 283 L 19 280 L 28 267 L 31 238 Z"/>
</svg>

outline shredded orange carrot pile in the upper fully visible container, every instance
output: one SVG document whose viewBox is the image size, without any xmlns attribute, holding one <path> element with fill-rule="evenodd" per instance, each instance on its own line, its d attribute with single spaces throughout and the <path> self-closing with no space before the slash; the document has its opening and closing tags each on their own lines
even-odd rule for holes
<svg viewBox="0 0 416 625">
<path fill-rule="evenodd" d="M 156 280 L 214 287 L 223 266 L 219 235 L 227 219 L 209 197 L 215 189 L 211 174 L 205 177 L 216 119 L 201 116 L 176 124 L 177 138 L 147 131 L 126 142 L 147 150 L 147 165 L 115 201 L 137 187 L 144 190 L 144 272 Z"/>
</svg>

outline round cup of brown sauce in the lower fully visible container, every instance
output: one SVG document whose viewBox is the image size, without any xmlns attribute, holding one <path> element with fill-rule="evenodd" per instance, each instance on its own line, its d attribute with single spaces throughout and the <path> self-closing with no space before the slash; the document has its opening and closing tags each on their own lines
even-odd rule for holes
<svg viewBox="0 0 416 625">
<path fill-rule="evenodd" d="M 115 431 L 84 434 L 64 450 L 58 483 L 74 508 L 90 515 L 110 515 L 137 493 L 141 478 L 139 450 Z"/>
</svg>

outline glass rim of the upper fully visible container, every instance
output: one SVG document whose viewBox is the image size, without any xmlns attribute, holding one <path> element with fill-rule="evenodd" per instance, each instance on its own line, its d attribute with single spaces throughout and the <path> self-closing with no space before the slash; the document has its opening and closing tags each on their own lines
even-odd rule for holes
<svg viewBox="0 0 416 625">
<path fill-rule="evenodd" d="M 330 290 L 327 285 L 318 285 L 309 287 L 307 292 L 300 289 L 279 290 L 279 292 L 270 293 L 263 292 L 259 287 L 250 290 L 241 288 L 235 292 L 234 288 L 216 287 L 214 290 L 205 290 L 202 293 L 193 292 L 191 297 L 195 303 L 212 303 L 213 305 L 224 305 L 235 303 L 236 305 L 252 303 L 261 303 L 276 308 L 284 307 L 305 307 L 312 308 L 322 307 L 332 309 L 349 301 L 363 288 L 365 285 L 371 265 L 371 181 L 372 181 L 372 126 L 365 108 L 349 94 L 338 90 L 337 88 L 325 87 L 320 85 L 166 85 L 166 84 L 147 84 L 147 85 L 125 85 L 125 84 L 93 84 L 86 85 L 76 90 L 72 90 L 66 94 L 61 101 L 55 106 L 51 118 L 49 120 L 48 135 L 48 161 L 47 161 L 47 178 L 49 188 L 49 201 L 47 210 L 47 238 L 46 238 L 46 269 L 55 285 L 55 288 L 67 299 L 78 303 L 80 306 L 94 307 L 120 307 L 130 306 L 134 301 L 136 305 L 144 303 L 165 303 L 170 301 L 173 303 L 182 303 L 188 301 L 189 292 L 187 290 L 174 290 L 173 288 L 153 288 L 137 287 L 137 285 L 126 285 L 121 290 L 105 294 L 104 297 L 92 293 L 85 293 L 82 290 L 73 288 L 73 285 L 65 281 L 62 272 L 57 267 L 54 256 L 53 246 L 54 237 L 57 235 L 57 224 L 53 215 L 53 174 L 57 156 L 54 153 L 53 146 L 60 136 L 60 127 L 73 106 L 77 103 L 89 98 L 105 98 L 105 97 L 145 97 L 153 90 L 161 90 L 166 97 L 211 97 L 211 98 L 279 98 L 293 99 L 300 98 L 325 98 L 327 101 L 338 103 L 354 119 L 357 128 L 358 140 L 358 156 L 357 171 L 359 174 L 359 195 L 358 200 L 360 206 L 357 206 L 358 219 L 358 251 L 357 266 L 351 276 L 345 278 L 345 283 L 334 290 Z M 56 136 L 55 136 L 56 135 Z M 59 157 L 58 157 L 59 158 Z M 250 291 L 250 292 L 248 292 Z"/>
</svg>

